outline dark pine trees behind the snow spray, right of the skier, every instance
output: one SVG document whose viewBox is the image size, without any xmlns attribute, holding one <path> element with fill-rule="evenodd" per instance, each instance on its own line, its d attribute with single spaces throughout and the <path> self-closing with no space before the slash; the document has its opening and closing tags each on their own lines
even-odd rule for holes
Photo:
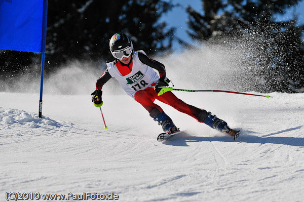
<svg viewBox="0 0 304 202">
<path fill-rule="evenodd" d="M 304 92 L 304 44 L 301 41 L 304 26 L 297 25 L 296 17 L 285 22 L 275 19 L 275 14 L 283 14 L 298 2 L 229 0 L 210 3 L 202 0 L 204 14 L 187 8 L 191 28 L 188 34 L 199 40 L 226 35 L 244 37 L 259 49 L 251 49 L 249 45 L 246 54 L 254 57 L 252 65 L 256 76 L 263 79 L 264 91 Z"/>
</svg>

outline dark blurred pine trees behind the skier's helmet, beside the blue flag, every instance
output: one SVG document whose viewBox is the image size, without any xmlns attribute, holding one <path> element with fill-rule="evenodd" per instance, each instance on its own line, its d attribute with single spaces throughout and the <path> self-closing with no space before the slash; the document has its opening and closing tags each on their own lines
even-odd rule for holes
<svg viewBox="0 0 304 202">
<path fill-rule="evenodd" d="M 54 59 L 112 60 L 108 43 L 117 32 L 125 32 L 136 50 L 142 49 L 150 54 L 155 53 L 156 47 L 161 51 L 171 47 L 169 36 L 173 30 L 165 31 L 167 24 L 159 22 L 160 17 L 172 8 L 170 3 L 161 0 L 90 0 L 87 3 L 73 1 L 68 6 L 70 4 L 56 0 L 49 7 L 49 16 L 56 16 L 48 19 L 47 43 Z"/>
</svg>

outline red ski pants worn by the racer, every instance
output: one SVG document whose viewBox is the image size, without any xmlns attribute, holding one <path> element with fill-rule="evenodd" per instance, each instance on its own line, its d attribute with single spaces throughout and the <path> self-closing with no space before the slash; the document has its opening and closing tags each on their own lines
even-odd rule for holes
<svg viewBox="0 0 304 202">
<path fill-rule="evenodd" d="M 158 93 L 155 92 L 154 88 L 148 87 L 145 90 L 137 91 L 134 95 L 134 99 L 148 112 L 152 111 L 155 107 L 158 108 L 160 112 L 163 111 L 159 105 L 154 103 L 155 99 L 158 99 L 159 101 L 174 107 L 178 111 L 194 117 L 198 122 L 204 122 L 207 115 L 206 110 L 186 104 L 182 100 L 178 99 L 171 91 L 158 96 Z"/>
</svg>

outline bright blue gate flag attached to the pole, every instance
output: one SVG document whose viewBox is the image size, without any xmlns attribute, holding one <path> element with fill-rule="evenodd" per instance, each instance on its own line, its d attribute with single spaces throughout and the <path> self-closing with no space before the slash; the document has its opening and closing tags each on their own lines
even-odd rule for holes
<svg viewBox="0 0 304 202">
<path fill-rule="evenodd" d="M 42 53 L 44 0 L 0 0 L 0 49 Z"/>
</svg>

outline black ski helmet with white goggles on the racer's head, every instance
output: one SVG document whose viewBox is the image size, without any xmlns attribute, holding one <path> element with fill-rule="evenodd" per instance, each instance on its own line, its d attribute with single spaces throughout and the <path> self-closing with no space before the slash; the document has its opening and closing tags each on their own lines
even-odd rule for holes
<svg viewBox="0 0 304 202">
<path fill-rule="evenodd" d="M 122 32 L 112 35 L 109 45 L 113 57 L 119 60 L 123 57 L 129 57 L 133 53 L 131 39 Z"/>
</svg>

